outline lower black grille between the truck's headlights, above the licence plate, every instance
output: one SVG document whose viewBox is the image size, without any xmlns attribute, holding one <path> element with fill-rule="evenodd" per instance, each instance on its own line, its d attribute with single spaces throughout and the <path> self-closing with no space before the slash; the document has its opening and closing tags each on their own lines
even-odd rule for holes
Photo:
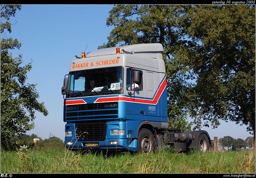
<svg viewBox="0 0 256 178">
<path fill-rule="evenodd" d="M 76 139 L 78 141 L 104 141 L 107 121 L 76 123 Z"/>
</svg>

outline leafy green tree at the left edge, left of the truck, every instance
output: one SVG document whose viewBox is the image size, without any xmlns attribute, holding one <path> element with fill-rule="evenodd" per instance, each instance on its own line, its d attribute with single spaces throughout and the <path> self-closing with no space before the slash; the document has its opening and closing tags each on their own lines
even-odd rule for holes
<svg viewBox="0 0 256 178">
<path fill-rule="evenodd" d="M 21 6 L 1 5 L 1 34 L 4 29 L 11 32 L 8 22 Z M 4 20 L 6 23 L 4 23 Z M 44 103 L 39 103 L 36 84 L 26 84 L 27 72 L 32 63 L 22 67 L 22 56 L 12 58 L 8 52 L 20 49 L 21 43 L 17 39 L 1 39 L 1 146 L 14 135 L 21 135 L 34 128 L 35 111 L 48 115 Z"/>
</svg>

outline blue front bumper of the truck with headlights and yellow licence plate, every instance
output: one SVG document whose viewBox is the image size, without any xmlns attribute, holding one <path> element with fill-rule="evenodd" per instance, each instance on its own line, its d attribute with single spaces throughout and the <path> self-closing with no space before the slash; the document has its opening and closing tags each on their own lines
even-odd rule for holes
<svg viewBox="0 0 256 178">
<path fill-rule="evenodd" d="M 80 123 L 77 125 L 76 123 L 66 123 L 65 132 L 70 133 L 72 131 L 72 135 L 66 135 L 65 147 L 70 150 L 137 151 L 137 139 L 128 135 L 126 121 L 108 121 L 106 123 L 107 126 L 99 130 L 92 130 L 92 127 L 98 127 L 98 125 L 84 123 L 82 131 L 79 130 L 81 128 Z M 87 128 L 87 125 L 90 125 L 90 127 Z M 124 135 L 112 135 L 112 130 L 124 130 Z M 102 135 L 102 133 L 104 134 Z M 100 137 L 97 136 L 99 134 Z M 84 135 L 85 137 L 83 137 Z"/>
</svg>

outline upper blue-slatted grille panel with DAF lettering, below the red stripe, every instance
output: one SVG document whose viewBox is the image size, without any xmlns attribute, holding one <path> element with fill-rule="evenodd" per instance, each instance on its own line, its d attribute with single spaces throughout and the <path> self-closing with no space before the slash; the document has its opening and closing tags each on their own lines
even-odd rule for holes
<svg viewBox="0 0 256 178">
<path fill-rule="evenodd" d="M 66 121 L 118 118 L 118 102 L 66 106 Z"/>
</svg>

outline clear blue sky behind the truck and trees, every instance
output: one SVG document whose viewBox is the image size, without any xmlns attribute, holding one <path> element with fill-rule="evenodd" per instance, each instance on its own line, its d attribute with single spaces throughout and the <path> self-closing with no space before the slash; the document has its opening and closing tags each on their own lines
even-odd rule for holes
<svg viewBox="0 0 256 178">
<path fill-rule="evenodd" d="M 22 54 L 23 65 L 32 60 L 32 70 L 28 72 L 26 83 L 37 84 L 39 102 L 44 102 L 48 116 L 36 113 L 35 128 L 28 131 L 42 139 L 54 135 L 64 140 L 63 96 L 61 87 L 68 74 L 74 56 L 81 56 L 97 50 L 106 43 L 113 27 L 106 26 L 108 12 L 112 5 L 22 5 L 15 17 L 12 33 L 6 37 L 17 38 L 20 50 L 9 51 L 12 57 Z M 1 34 L 2 37 L 3 34 Z M 246 126 L 232 122 L 221 122 L 217 129 L 202 128 L 213 137 L 231 136 L 246 139 L 250 135 Z"/>
</svg>

